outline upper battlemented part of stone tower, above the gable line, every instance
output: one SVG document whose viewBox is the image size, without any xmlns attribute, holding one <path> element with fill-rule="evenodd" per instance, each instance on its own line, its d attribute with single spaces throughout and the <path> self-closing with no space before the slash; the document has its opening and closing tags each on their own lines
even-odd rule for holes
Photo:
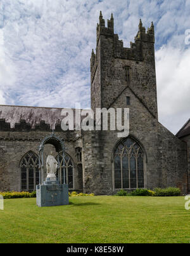
<svg viewBox="0 0 190 256">
<path fill-rule="evenodd" d="M 100 13 L 96 35 L 96 55 L 92 50 L 91 56 L 91 108 L 109 109 L 129 88 L 158 119 L 153 23 L 146 32 L 140 20 L 135 43 L 124 48 L 114 34 L 113 15 L 105 27 Z"/>
</svg>

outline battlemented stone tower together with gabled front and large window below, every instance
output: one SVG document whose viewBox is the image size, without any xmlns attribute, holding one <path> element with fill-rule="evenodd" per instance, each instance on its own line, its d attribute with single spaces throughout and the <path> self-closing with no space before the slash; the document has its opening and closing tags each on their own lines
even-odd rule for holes
<svg viewBox="0 0 190 256">
<path fill-rule="evenodd" d="M 97 154 L 102 159 L 94 159 L 94 190 L 99 186 L 100 191 L 111 193 L 121 187 L 139 187 L 139 179 L 142 187 L 175 186 L 187 192 L 186 145 L 158 122 L 153 22 L 146 31 L 140 20 L 134 43 L 124 48 L 114 33 L 113 15 L 106 27 L 100 13 L 96 35 L 96 54 L 92 50 L 91 55 L 91 108 L 128 107 L 130 135 L 123 142 L 114 131 L 99 131 L 92 138 L 97 152 L 92 158 Z M 143 154 L 138 155 L 133 146 L 140 147 Z"/>
</svg>

